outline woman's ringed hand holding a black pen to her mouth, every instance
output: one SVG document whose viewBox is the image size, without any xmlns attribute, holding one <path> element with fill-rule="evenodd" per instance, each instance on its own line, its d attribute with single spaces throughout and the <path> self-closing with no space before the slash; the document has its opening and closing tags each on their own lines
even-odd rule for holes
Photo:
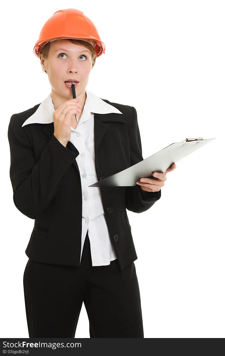
<svg viewBox="0 0 225 356">
<path fill-rule="evenodd" d="M 53 112 L 54 136 L 65 147 L 71 136 L 71 117 L 80 112 L 79 101 L 80 98 L 67 100 Z"/>
</svg>

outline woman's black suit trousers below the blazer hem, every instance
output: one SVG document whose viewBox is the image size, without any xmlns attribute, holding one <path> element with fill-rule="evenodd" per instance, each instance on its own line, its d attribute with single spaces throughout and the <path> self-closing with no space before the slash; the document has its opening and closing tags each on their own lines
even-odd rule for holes
<svg viewBox="0 0 225 356">
<path fill-rule="evenodd" d="M 90 337 L 144 337 L 134 262 L 122 271 L 117 260 L 92 266 L 88 233 L 80 266 L 29 258 L 23 287 L 29 337 L 74 338 L 83 302 Z"/>
</svg>

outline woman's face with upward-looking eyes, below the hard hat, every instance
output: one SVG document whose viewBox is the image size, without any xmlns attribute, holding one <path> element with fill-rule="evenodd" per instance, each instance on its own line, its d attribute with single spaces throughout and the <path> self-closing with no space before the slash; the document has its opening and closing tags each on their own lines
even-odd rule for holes
<svg viewBox="0 0 225 356">
<path fill-rule="evenodd" d="M 52 41 L 48 58 L 44 59 L 41 54 L 41 65 L 48 74 L 52 100 L 54 98 L 55 103 L 57 102 L 57 107 L 73 98 L 72 89 L 66 87 L 64 83 L 67 79 L 79 82 L 76 86 L 77 98 L 82 99 L 86 95 L 85 88 L 92 69 L 91 52 L 88 48 L 75 45 L 68 40 Z"/>
</svg>

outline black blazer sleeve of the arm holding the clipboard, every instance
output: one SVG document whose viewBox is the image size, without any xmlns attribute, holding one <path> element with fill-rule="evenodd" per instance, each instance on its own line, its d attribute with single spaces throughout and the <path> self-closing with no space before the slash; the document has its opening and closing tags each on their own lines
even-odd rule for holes
<svg viewBox="0 0 225 356">
<path fill-rule="evenodd" d="M 130 143 L 130 167 L 136 163 L 143 161 L 141 137 L 138 126 L 137 112 L 132 106 L 133 120 L 128 130 Z M 140 177 L 141 178 L 141 177 Z M 144 177 L 143 177 L 144 178 Z M 143 191 L 140 185 L 135 187 L 127 187 L 125 189 L 125 205 L 126 208 L 134 213 L 142 213 L 148 210 L 151 206 L 161 198 L 161 189 L 159 192 Z"/>
</svg>

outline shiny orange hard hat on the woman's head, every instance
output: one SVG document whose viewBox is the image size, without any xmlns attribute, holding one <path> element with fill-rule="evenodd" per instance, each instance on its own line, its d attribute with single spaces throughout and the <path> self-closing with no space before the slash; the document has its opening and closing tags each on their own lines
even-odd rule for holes
<svg viewBox="0 0 225 356">
<path fill-rule="evenodd" d="M 97 28 L 82 11 L 76 9 L 54 12 L 42 27 L 33 52 L 39 58 L 39 52 L 47 42 L 69 38 L 86 40 L 91 43 L 95 48 L 97 57 L 105 53 L 106 46 L 101 41 Z"/>
</svg>

